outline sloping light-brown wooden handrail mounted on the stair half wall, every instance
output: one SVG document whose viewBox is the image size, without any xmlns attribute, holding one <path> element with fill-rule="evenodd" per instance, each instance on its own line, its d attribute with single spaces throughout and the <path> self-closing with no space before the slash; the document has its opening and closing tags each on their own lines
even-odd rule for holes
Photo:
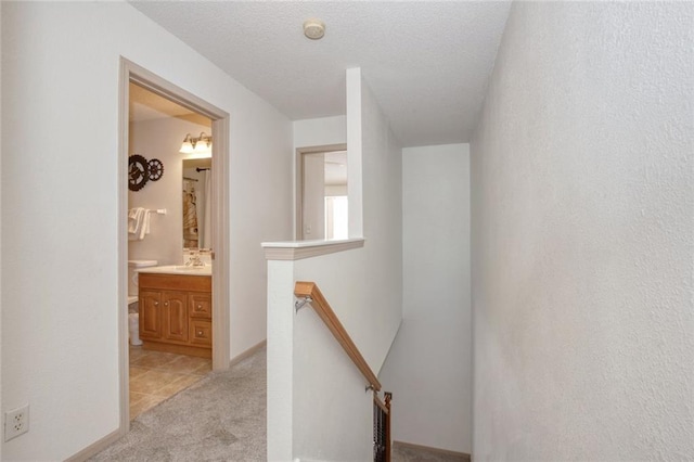
<svg viewBox="0 0 694 462">
<path fill-rule="evenodd" d="M 297 297 L 311 297 L 311 306 L 318 313 L 318 316 L 323 320 L 330 332 L 333 333 L 335 339 L 342 345 L 345 352 L 352 360 L 357 369 L 361 372 L 361 374 L 367 378 L 369 385 L 371 385 L 374 392 L 378 392 L 381 389 L 381 382 L 376 378 L 376 374 L 373 373 L 364 357 L 359 352 L 359 348 L 352 342 L 351 337 L 345 331 L 342 322 L 337 319 L 335 311 L 330 307 L 330 304 L 323 297 L 323 294 L 318 288 L 314 282 L 305 282 L 297 281 L 294 285 L 294 295 Z"/>
</svg>

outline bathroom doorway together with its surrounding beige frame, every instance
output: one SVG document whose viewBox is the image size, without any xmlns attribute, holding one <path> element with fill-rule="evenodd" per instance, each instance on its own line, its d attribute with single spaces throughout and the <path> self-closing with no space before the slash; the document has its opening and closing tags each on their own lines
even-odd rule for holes
<svg viewBox="0 0 694 462">
<path fill-rule="evenodd" d="M 210 280 L 208 295 L 185 293 L 201 288 L 182 287 L 177 282 L 174 298 L 166 298 L 171 291 L 162 292 L 157 296 L 164 298 L 146 298 L 144 306 L 131 310 L 139 315 L 139 324 L 145 324 L 144 331 L 136 331 L 143 333 L 144 339 L 152 325 L 147 322 L 157 312 L 155 305 L 162 300 L 160 309 L 169 307 L 162 317 L 170 329 L 166 331 L 158 320 L 155 324 L 164 335 L 156 342 L 150 337 L 146 349 L 130 345 L 129 313 L 120 310 L 120 431 L 125 434 L 131 410 L 142 411 L 207 371 L 229 367 L 229 294 L 224 284 L 215 283 L 224 280 L 228 268 L 229 115 L 125 59 L 120 84 L 120 306 L 128 301 L 129 260 L 154 260 L 157 268 L 182 272 L 174 274 L 177 281 L 203 280 L 205 275 L 197 277 L 198 271 L 209 271 Z M 185 169 L 184 159 L 196 163 L 194 174 L 190 166 Z M 138 211 L 146 218 L 134 220 Z M 142 228 L 133 230 L 138 222 Z M 141 277 L 145 281 L 163 277 L 152 274 L 156 268 L 147 266 L 147 278 L 144 273 Z M 205 319 L 207 300 L 209 307 L 214 300 L 209 319 Z M 191 315 L 194 307 L 203 307 L 197 317 Z M 211 355 L 209 347 L 201 347 L 202 341 L 211 344 Z M 211 358 L 201 358 L 206 355 Z M 137 363 L 132 369 L 131 362 Z M 142 374 L 162 381 L 162 387 L 154 396 L 141 394 L 140 406 L 131 407 L 131 378 Z"/>
</svg>

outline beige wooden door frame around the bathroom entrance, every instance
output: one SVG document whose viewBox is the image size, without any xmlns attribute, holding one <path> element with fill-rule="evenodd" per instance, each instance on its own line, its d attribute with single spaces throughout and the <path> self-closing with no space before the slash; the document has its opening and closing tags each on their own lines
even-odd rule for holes
<svg viewBox="0 0 694 462">
<path fill-rule="evenodd" d="M 118 362 L 120 377 L 120 432 L 130 427 L 128 313 L 128 139 L 129 84 L 167 98 L 213 121 L 213 370 L 229 369 L 229 123 L 230 116 L 219 107 L 197 98 L 133 62 L 120 57 L 118 108 Z M 182 252 L 182 249 L 181 249 Z"/>
</svg>

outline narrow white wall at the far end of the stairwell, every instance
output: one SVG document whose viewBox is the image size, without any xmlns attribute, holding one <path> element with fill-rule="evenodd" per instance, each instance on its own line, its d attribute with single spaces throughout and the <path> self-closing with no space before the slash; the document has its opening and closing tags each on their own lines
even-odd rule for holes
<svg viewBox="0 0 694 462">
<path fill-rule="evenodd" d="M 470 145 L 402 150 L 402 324 L 381 370 L 393 439 L 472 450 Z"/>
</svg>

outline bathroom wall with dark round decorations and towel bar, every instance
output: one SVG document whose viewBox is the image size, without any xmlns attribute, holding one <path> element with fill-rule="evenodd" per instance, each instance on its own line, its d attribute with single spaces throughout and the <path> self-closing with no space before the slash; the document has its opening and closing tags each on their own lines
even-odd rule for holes
<svg viewBox="0 0 694 462">
<path fill-rule="evenodd" d="M 209 133 L 210 128 L 175 117 L 130 124 L 128 154 L 140 154 L 147 161 L 158 158 L 164 175 L 139 191 L 128 191 L 128 207 L 166 208 L 167 214 L 150 215 L 150 234 L 142 241 L 129 241 L 129 259 L 153 259 L 159 265 L 183 262 L 182 177 L 183 159 L 190 155 L 179 150 L 187 133 L 201 131 Z"/>
</svg>

